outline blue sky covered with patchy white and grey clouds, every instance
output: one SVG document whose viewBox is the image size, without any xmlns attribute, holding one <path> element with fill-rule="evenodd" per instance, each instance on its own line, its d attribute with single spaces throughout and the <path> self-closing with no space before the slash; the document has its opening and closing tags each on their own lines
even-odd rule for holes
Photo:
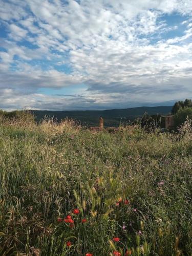
<svg viewBox="0 0 192 256">
<path fill-rule="evenodd" d="M 192 98 L 192 0 L 0 0 L 0 109 Z"/>
</svg>

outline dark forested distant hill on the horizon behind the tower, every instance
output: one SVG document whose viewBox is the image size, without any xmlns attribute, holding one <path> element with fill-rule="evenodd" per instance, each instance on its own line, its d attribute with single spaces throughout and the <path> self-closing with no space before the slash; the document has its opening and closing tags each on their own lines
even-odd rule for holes
<svg viewBox="0 0 192 256">
<path fill-rule="evenodd" d="M 104 126 L 119 126 L 120 122 L 134 120 L 147 112 L 149 115 L 166 115 L 172 111 L 172 106 L 141 106 L 129 109 L 113 109 L 113 110 L 86 110 L 86 111 L 31 111 L 36 120 L 44 118 L 44 116 L 55 117 L 58 121 L 66 117 L 80 121 L 84 125 L 97 125 L 99 117 L 104 118 Z"/>
</svg>

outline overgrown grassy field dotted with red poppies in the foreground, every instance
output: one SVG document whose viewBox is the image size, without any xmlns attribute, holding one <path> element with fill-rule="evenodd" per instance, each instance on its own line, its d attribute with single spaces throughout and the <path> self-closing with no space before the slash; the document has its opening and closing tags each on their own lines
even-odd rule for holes
<svg viewBox="0 0 192 256">
<path fill-rule="evenodd" d="M 109 134 L 72 121 L 2 120 L 0 255 L 191 255 L 184 130 Z"/>
</svg>

